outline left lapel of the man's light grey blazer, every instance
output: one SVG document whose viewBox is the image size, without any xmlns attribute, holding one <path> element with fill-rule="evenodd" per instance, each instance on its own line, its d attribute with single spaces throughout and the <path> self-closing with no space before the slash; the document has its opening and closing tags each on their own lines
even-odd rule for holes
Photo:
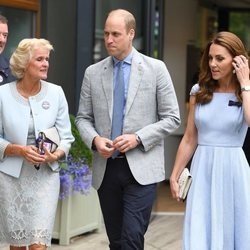
<svg viewBox="0 0 250 250">
<path fill-rule="evenodd" d="M 108 103 L 109 117 L 112 120 L 112 103 L 113 103 L 113 61 L 110 60 L 104 65 L 102 72 L 102 86 Z"/>
</svg>

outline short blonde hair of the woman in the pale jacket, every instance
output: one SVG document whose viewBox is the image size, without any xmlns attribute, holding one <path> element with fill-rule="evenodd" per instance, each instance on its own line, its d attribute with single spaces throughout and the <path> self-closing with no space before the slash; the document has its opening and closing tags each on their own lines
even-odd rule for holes
<svg viewBox="0 0 250 250">
<path fill-rule="evenodd" d="M 29 64 L 34 50 L 37 48 L 53 50 L 51 43 L 43 38 L 25 38 L 21 40 L 10 57 L 10 69 L 12 74 L 19 80 L 24 76 L 25 69 Z"/>
</svg>

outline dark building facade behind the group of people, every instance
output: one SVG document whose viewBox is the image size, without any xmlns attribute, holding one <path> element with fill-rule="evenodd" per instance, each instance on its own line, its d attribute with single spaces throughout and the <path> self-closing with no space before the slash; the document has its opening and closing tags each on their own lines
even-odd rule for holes
<svg viewBox="0 0 250 250">
<path fill-rule="evenodd" d="M 172 76 L 182 125 L 166 140 L 166 177 L 184 133 L 189 91 L 200 53 L 219 30 L 230 30 L 250 46 L 248 0 L 0 0 L 0 13 L 9 20 L 10 56 L 25 37 L 43 37 L 54 46 L 48 81 L 63 87 L 76 114 L 84 71 L 106 57 L 102 30 L 107 13 L 131 11 L 137 20 L 134 46 L 162 59 Z"/>
</svg>

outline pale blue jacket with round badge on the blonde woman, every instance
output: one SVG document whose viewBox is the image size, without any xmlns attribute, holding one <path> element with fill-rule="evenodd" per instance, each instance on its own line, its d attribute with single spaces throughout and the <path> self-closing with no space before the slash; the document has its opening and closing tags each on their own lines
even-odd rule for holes
<svg viewBox="0 0 250 250">
<path fill-rule="evenodd" d="M 8 144 L 26 145 L 33 114 L 36 138 L 38 133 L 56 126 L 60 135 L 59 149 L 67 155 L 74 141 L 68 113 L 68 103 L 62 88 L 41 81 L 40 92 L 28 99 L 22 97 L 16 88 L 16 81 L 0 86 L 0 171 L 19 177 L 23 158 L 4 156 Z M 58 171 L 58 162 L 50 163 L 52 170 Z"/>
</svg>

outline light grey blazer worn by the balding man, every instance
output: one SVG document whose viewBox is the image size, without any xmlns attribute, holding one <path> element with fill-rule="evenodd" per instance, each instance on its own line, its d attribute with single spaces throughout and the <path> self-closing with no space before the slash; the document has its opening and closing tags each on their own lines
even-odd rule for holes
<svg viewBox="0 0 250 250">
<path fill-rule="evenodd" d="M 113 110 L 113 60 L 89 66 L 83 78 L 76 125 L 92 147 L 95 136 L 111 137 Z M 126 152 L 134 178 L 142 185 L 165 179 L 164 138 L 180 125 L 179 107 L 165 64 L 133 48 L 123 133 L 136 133 L 143 147 Z M 93 157 L 93 186 L 98 189 L 107 159 Z"/>
</svg>

